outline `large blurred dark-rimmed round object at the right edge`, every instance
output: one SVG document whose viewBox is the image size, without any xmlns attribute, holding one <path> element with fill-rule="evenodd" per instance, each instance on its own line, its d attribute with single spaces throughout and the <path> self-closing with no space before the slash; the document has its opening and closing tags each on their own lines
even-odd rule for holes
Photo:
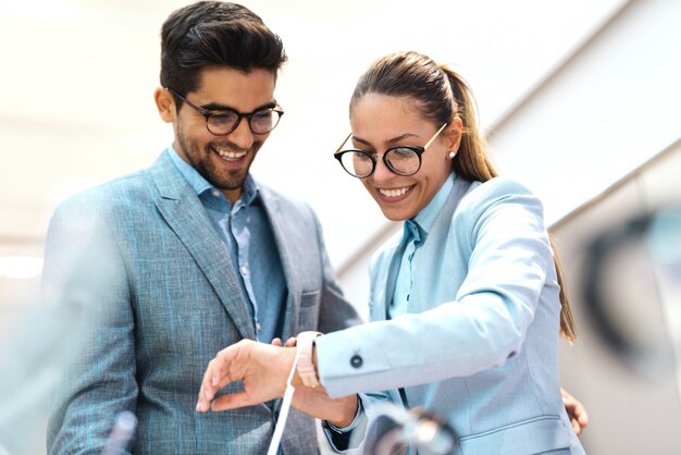
<svg viewBox="0 0 681 455">
<path fill-rule="evenodd" d="M 631 219 L 596 237 L 590 254 L 584 302 L 604 344 L 645 377 L 672 369 L 679 377 L 681 208 Z M 648 319 L 658 313 L 649 305 L 659 306 L 664 320 Z M 666 330 L 655 329 L 660 325 Z"/>
</svg>

